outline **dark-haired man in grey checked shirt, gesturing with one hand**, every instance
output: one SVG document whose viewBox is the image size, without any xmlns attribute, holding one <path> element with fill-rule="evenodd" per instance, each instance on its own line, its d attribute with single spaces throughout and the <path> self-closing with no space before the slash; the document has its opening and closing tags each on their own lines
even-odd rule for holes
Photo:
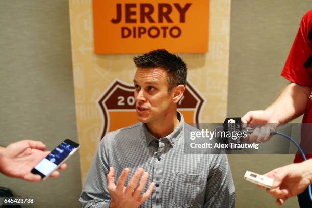
<svg viewBox="0 0 312 208">
<path fill-rule="evenodd" d="M 226 154 L 184 153 L 184 135 L 194 131 L 177 112 L 186 64 L 163 49 L 134 62 L 140 123 L 101 140 L 79 199 L 82 206 L 233 207 Z"/>
</svg>

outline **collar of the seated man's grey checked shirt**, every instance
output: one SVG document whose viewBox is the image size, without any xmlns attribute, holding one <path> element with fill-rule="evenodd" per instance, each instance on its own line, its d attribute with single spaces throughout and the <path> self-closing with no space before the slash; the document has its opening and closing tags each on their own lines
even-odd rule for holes
<svg viewBox="0 0 312 208">
<path fill-rule="evenodd" d="M 177 142 L 177 140 L 180 138 L 180 135 L 183 133 L 183 129 L 184 129 L 183 115 L 178 111 L 176 112 L 176 114 L 177 114 L 177 118 L 180 121 L 179 125 L 174 129 L 174 131 L 172 133 L 170 133 L 166 137 L 163 137 L 169 141 L 169 143 L 172 145 L 172 147 L 173 147 L 174 143 Z M 142 123 L 142 128 L 143 128 L 143 135 L 146 139 L 146 146 L 148 146 L 156 138 L 148 131 L 145 123 Z M 162 138 L 160 138 L 160 139 L 162 139 Z"/>
</svg>

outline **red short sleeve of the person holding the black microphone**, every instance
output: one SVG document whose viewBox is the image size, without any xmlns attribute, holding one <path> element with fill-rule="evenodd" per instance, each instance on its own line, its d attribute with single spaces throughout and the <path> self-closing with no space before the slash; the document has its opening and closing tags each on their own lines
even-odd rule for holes
<svg viewBox="0 0 312 208">
<path fill-rule="evenodd" d="M 302 17 L 298 33 L 281 73 L 289 81 L 309 87 L 312 85 L 312 66 L 305 68 L 303 64 L 311 56 L 311 42 L 308 38 L 311 25 L 312 9 Z"/>
</svg>

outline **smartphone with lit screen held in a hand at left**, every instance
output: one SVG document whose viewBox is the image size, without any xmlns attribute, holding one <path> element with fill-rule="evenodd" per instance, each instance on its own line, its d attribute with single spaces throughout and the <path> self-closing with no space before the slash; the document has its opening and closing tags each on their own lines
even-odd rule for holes
<svg viewBox="0 0 312 208">
<path fill-rule="evenodd" d="M 57 146 L 47 157 L 40 161 L 32 170 L 33 174 L 41 176 L 45 180 L 53 171 L 58 169 L 77 149 L 80 145 L 76 142 L 65 139 Z"/>
</svg>

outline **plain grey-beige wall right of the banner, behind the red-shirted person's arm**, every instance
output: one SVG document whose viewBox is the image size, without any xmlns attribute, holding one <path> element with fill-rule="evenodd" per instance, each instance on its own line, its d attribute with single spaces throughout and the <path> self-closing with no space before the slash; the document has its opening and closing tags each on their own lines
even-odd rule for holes
<svg viewBox="0 0 312 208">
<path fill-rule="evenodd" d="M 269 106 L 289 83 L 280 76 L 310 1 L 231 2 L 227 115 L 242 117 Z M 301 118 L 294 122 L 301 122 Z M 237 207 L 275 207 L 265 190 L 244 181 L 246 170 L 266 173 L 292 163 L 292 154 L 228 155 L 236 186 Z M 298 206 L 297 198 L 283 207 Z"/>
</svg>

